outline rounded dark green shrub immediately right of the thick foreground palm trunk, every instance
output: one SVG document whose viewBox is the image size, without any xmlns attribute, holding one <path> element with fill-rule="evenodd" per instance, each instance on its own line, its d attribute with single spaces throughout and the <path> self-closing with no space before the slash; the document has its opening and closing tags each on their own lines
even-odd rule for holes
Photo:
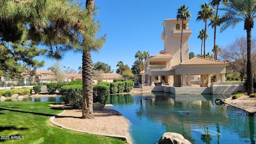
<svg viewBox="0 0 256 144">
<path fill-rule="evenodd" d="M 109 98 L 109 87 L 103 84 L 95 84 L 93 87 L 93 102 L 105 104 Z"/>
</svg>

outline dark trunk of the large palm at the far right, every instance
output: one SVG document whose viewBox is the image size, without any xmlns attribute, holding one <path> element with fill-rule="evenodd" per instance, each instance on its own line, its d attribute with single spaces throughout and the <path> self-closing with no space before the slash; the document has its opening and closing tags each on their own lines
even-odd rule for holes
<svg viewBox="0 0 256 144">
<path fill-rule="evenodd" d="M 252 52 L 252 29 L 246 29 L 247 33 L 247 94 L 253 94 L 253 76 L 252 76 L 252 61 L 251 61 L 251 52 Z"/>
</svg>

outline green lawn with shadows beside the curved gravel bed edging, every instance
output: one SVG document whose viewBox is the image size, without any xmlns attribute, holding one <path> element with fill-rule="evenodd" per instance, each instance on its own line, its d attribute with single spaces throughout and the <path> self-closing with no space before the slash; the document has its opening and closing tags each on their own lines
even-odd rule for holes
<svg viewBox="0 0 256 144">
<path fill-rule="evenodd" d="M 50 124 L 50 117 L 62 112 L 50 102 L 0 102 L 1 136 L 24 139 L 1 140 L 2 144 L 125 144 L 117 138 L 84 134 Z"/>
</svg>

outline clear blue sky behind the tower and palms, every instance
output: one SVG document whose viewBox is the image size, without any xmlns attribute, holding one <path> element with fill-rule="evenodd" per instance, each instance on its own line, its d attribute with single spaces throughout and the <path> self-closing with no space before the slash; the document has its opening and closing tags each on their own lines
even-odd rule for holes
<svg viewBox="0 0 256 144">
<path fill-rule="evenodd" d="M 192 30 L 192 36 L 189 38 L 189 52 L 199 54 L 201 40 L 197 39 L 197 36 L 198 31 L 204 28 L 205 23 L 203 21 L 196 22 L 196 18 L 198 11 L 201 10 L 200 4 L 205 2 L 209 1 L 95 0 L 98 14 L 94 18 L 101 24 L 99 35 L 106 33 L 107 41 L 98 53 L 92 52 L 93 62 L 104 62 L 110 65 L 112 70 L 116 70 L 118 61 L 123 61 L 131 68 L 136 60 L 134 56 L 138 50 L 148 51 L 150 56 L 158 54 L 160 50 L 164 49 L 164 41 L 161 40 L 162 22 L 164 19 L 176 18 L 177 9 L 183 4 L 189 7 L 188 10 L 192 15 L 189 22 L 189 29 Z M 221 7 L 223 5 L 220 5 Z M 222 13 L 219 11 L 220 15 Z M 236 36 L 246 36 L 243 26 L 243 22 L 241 22 L 235 28 L 228 28 L 222 33 L 219 33 L 220 28 L 217 28 L 216 44 L 224 48 L 228 43 L 233 42 Z M 212 51 L 213 31 L 211 27 L 207 27 L 209 38 L 206 40 L 206 52 Z M 252 29 L 252 36 L 254 33 L 255 30 Z M 53 65 L 53 60 L 43 59 L 46 63 L 43 68 L 38 68 L 38 70 L 47 70 Z M 82 66 L 82 54 L 67 52 L 60 63 L 78 71 L 78 67 Z"/>
</svg>

